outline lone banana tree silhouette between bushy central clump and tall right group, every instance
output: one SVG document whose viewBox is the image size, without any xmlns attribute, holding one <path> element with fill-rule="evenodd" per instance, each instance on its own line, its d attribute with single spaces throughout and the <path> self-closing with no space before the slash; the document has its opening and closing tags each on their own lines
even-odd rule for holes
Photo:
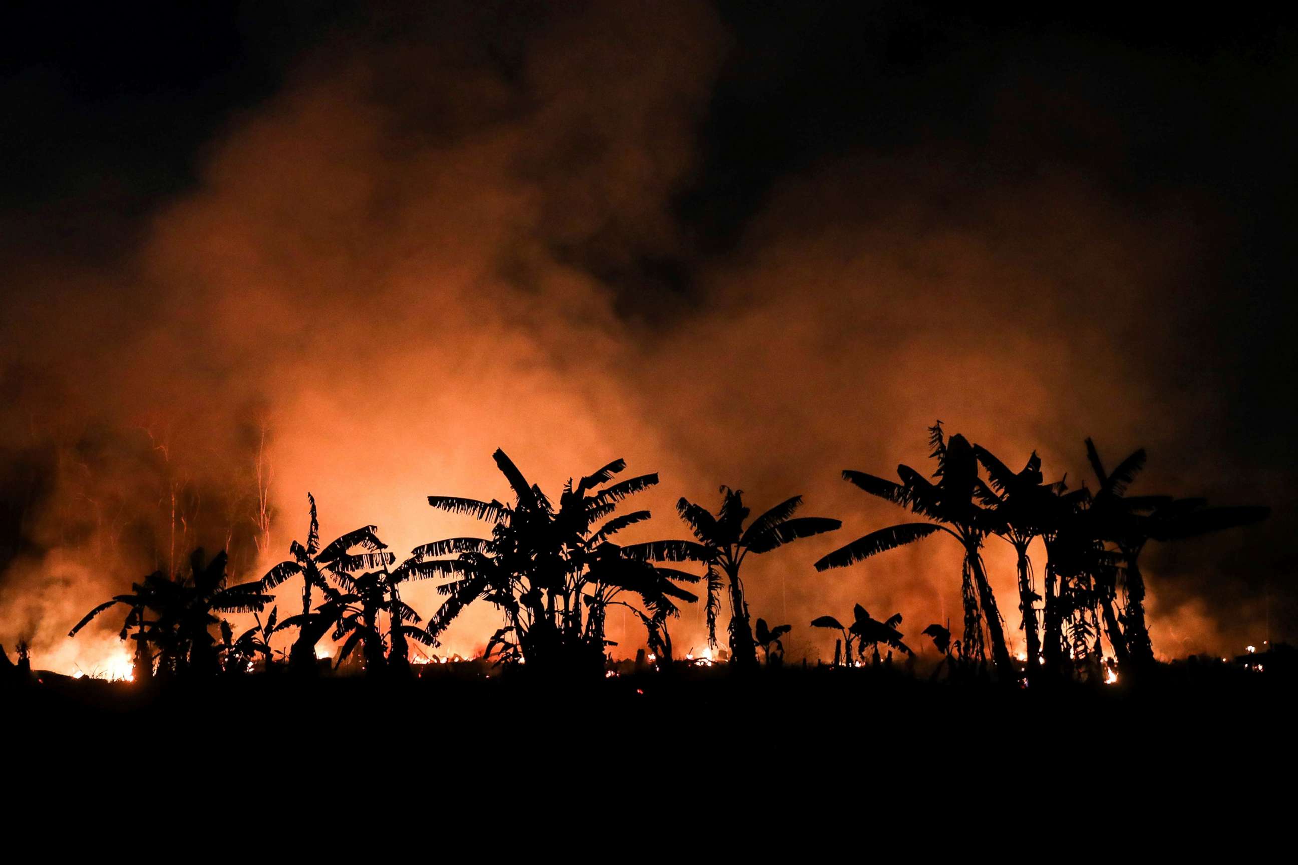
<svg viewBox="0 0 1298 865">
<path fill-rule="evenodd" d="M 793 519 L 794 511 L 802 504 L 802 497 L 794 495 L 766 511 L 744 527 L 749 510 L 744 506 L 742 490 L 720 488 L 722 506 L 714 516 L 707 508 L 681 498 L 676 502 L 680 519 L 689 525 L 702 547 L 701 559 L 707 564 L 707 642 L 716 646 L 716 611 L 720 606 L 720 575 L 726 575 L 729 586 L 731 621 L 728 626 L 732 663 L 741 667 L 757 664 L 757 643 L 749 626 L 748 602 L 744 598 L 744 581 L 740 578 L 740 565 L 752 554 L 770 552 L 797 538 L 811 537 L 822 532 L 832 532 L 842 525 L 839 520 L 822 516 L 802 516 Z M 692 550 L 700 555 L 698 550 Z"/>
</svg>

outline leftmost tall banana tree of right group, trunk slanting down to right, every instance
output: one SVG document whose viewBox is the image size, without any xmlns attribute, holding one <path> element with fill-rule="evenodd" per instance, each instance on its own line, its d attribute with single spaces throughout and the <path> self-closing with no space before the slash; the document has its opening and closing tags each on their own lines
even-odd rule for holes
<svg viewBox="0 0 1298 865">
<path fill-rule="evenodd" d="M 1009 674 L 1012 667 L 1005 645 L 1001 613 L 997 611 L 980 554 L 984 537 L 997 528 L 999 521 L 990 508 L 984 508 L 977 502 L 994 495 L 977 476 L 977 459 L 964 436 L 957 433 L 946 441 L 941 421 L 931 427 L 929 433 L 929 442 L 933 446 L 931 455 L 937 459 L 937 471 L 933 473 L 940 479 L 937 484 L 931 484 L 918 471 L 905 464 L 897 467 L 901 484 L 851 469 L 844 471 L 842 476 L 871 495 L 907 507 L 931 521 L 902 523 L 871 532 L 822 558 L 815 567 L 816 571 L 841 568 L 885 550 L 914 543 L 936 532 L 950 534 L 964 549 L 962 575 L 964 652 L 977 660 L 984 658 L 983 624 L 985 622 L 993 663 L 998 670 Z"/>
</svg>

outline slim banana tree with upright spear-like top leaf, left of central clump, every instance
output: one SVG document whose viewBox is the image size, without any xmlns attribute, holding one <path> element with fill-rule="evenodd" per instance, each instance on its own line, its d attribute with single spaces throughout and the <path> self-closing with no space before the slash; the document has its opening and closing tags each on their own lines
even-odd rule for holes
<svg viewBox="0 0 1298 865">
<path fill-rule="evenodd" d="M 384 545 L 375 536 L 375 527 L 373 525 L 363 525 L 340 534 L 321 549 L 319 516 L 315 510 L 315 497 L 308 493 L 306 499 L 310 502 L 310 524 L 306 530 L 306 543 L 293 541 L 288 547 L 293 558 L 280 562 L 267 571 L 266 576 L 261 578 L 261 589 L 262 591 L 271 591 L 287 580 L 299 576 L 302 578 L 302 612 L 300 616 L 289 616 L 280 622 L 280 629 L 299 629 L 297 639 L 293 641 L 293 646 L 288 654 L 288 665 L 296 670 L 310 672 L 317 668 L 315 645 L 323 639 L 328 628 L 332 626 L 326 625 L 323 629 L 319 628 L 322 622 L 312 611 L 313 590 L 324 593 L 330 587 L 327 577 L 334 576 L 337 568 L 341 568 L 343 572 L 357 568 L 374 568 L 378 567 L 380 559 L 389 562 L 391 554 L 370 559 L 357 558 L 367 554 L 378 554 L 384 549 Z M 357 546 L 362 547 L 363 552 L 348 552 Z M 349 555 L 350 558 L 347 558 Z M 327 606 L 323 612 L 336 612 L 336 604 Z"/>
</svg>

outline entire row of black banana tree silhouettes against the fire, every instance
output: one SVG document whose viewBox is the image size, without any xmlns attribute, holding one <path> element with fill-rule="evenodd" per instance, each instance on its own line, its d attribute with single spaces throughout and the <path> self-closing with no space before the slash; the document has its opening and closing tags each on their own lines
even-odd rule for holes
<svg viewBox="0 0 1298 865">
<path fill-rule="evenodd" d="M 940 421 L 929 433 L 937 462 L 936 482 L 905 464 L 897 469 L 900 482 L 859 471 L 844 472 L 854 485 L 906 507 L 925 521 L 866 534 L 822 556 L 815 568 L 823 572 L 845 567 L 938 532 L 957 538 L 963 549 L 963 638 L 953 641 L 949 628 L 937 624 L 923 632 L 933 638 L 953 674 L 958 668 L 985 661 L 989 643 L 996 676 L 1002 681 L 1033 682 L 1038 672 L 1051 677 L 1098 676 L 1102 663 L 1107 663 L 1103 637 L 1118 669 L 1150 667 L 1154 654 L 1138 563 L 1145 545 L 1254 523 L 1268 514 L 1264 507 L 1208 507 L 1201 498 L 1127 495 L 1127 488 L 1145 464 L 1144 450 L 1106 471 L 1088 438 L 1086 456 L 1098 481 L 1092 493 L 1086 488 L 1068 489 L 1064 480 L 1045 482 L 1036 453 L 1022 469 L 1014 471 L 962 434 L 948 438 Z M 771 628 L 758 619 L 753 632 L 740 567 L 749 554 L 765 554 L 841 525 L 828 517 L 796 517 L 801 497 L 785 499 L 749 521 L 742 493 L 722 486 L 716 514 L 684 498 L 678 501 L 678 514 L 694 539 L 619 545 L 614 538 L 620 532 L 650 517 L 645 510 L 617 514 L 619 506 L 655 485 L 657 475 L 619 481 L 617 476 L 626 463 L 617 459 L 591 475 L 570 479 L 556 504 L 504 450 L 496 450 L 493 459 L 513 492 L 509 503 L 428 497 L 437 510 L 485 521 L 489 537 L 450 537 L 424 543 L 400 564 L 374 525 L 353 529 L 322 546 L 315 498 L 308 493 L 306 541 L 293 541 L 292 558 L 260 580 L 231 585 L 225 552 L 208 560 L 199 549 L 186 576 L 161 571 L 148 575 L 132 584 L 131 591 L 91 610 L 69 635 L 100 613 L 123 606 L 119 638 L 135 642 L 132 673 L 140 682 L 154 676 L 166 680 L 214 676 L 222 670 L 241 674 L 254 669 L 258 659 L 262 669 L 269 670 L 274 667 L 273 639 L 287 630 L 296 630 L 287 652 L 289 669 L 318 670 L 322 661 L 315 647 L 328 634 L 339 643 L 335 668 L 350 663 L 360 648 L 357 664 L 367 676 L 408 674 L 410 641 L 439 645 L 456 617 L 482 599 L 496 606 L 504 617 L 483 658 L 495 658 L 496 663 L 526 661 L 531 669 L 594 674 L 605 668 L 609 647 L 615 645 L 605 634 L 610 607 L 630 610 L 645 626 L 649 650 L 671 664 L 668 620 L 679 615 L 680 603 L 698 599 L 683 585 L 706 580 L 709 642 L 715 646 L 719 595 L 724 589 L 731 611 L 727 628 L 731 665 L 755 667 L 758 646 L 767 665 L 776 665 L 784 655 L 781 637 L 790 626 Z M 1019 628 L 1027 646 L 1023 669 L 1009 656 L 983 564 L 981 547 L 988 536 L 1003 538 L 1015 551 Z M 1028 556 L 1028 546 L 1036 538 L 1046 549 L 1041 594 Z M 671 567 L 675 563 L 693 563 L 706 571 L 694 573 Z M 301 612 L 279 619 L 275 607 L 262 621 L 258 613 L 273 600 L 271 591 L 291 578 L 302 581 Z M 402 586 L 414 580 L 439 581 L 437 590 L 444 597 L 427 621 L 401 599 Z M 252 613 L 256 626 L 236 638 L 231 622 L 218 613 L 238 612 Z M 857 604 L 849 625 L 833 616 L 820 616 L 811 625 L 840 632 L 835 665 L 853 665 L 866 659 L 867 646 L 879 663 L 880 643 L 888 647 L 889 659 L 893 651 L 912 655 L 902 642 L 901 621 L 901 613 L 879 621 Z M 213 628 L 218 629 L 219 641 Z"/>
</svg>

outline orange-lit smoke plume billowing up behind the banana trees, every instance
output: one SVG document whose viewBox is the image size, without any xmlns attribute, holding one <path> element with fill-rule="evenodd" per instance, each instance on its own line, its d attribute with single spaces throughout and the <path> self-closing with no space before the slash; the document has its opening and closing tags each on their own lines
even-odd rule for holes
<svg viewBox="0 0 1298 865">
<path fill-rule="evenodd" d="M 1205 231 L 1185 207 L 1136 213 L 1063 169 L 988 184 L 932 143 L 805 166 L 709 252 L 676 205 L 733 51 L 715 14 L 593 4 L 475 39 L 488 23 L 326 39 L 108 261 L 0 249 L 0 641 L 88 669 L 116 643 L 109 622 L 64 637 L 90 606 L 200 543 L 260 576 L 305 532 L 308 490 L 328 537 L 373 523 L 401 552 L 471 533 L 424 497 L 505 498 L 497 446 L 546 489 L 615 456 L 658 471 L 640 537 L 683 536 L 675 498 L 715 506 L 720 484 L 841 517 L 752 562 L 753 613 L 794 625 L 790 658 L 832 651 L 807 622 L 858 600 L 902 612 L 916 645 L 958 620 L 941 538 L 810 567 L 898 516 L 839 471 L 922 467 L 937 419 L 1072 484 L 1090 434 L 1112 459 L 1149 449 L 1141 489 L 1292 498 L 1232 450 L 1211 396 L 1229 371 L 1184 337 L 1211 315 L 1176 302 Z M 1260 639 L 1284 519 L 1151 550 L 1157 648 Z M 448 647 L 480 648 L 495 620 L 471 610 Z M 611 625 L 619 652 L 640 645 Z M 672 632 L 702 645 L 701 610 Z"/>
</svg>

